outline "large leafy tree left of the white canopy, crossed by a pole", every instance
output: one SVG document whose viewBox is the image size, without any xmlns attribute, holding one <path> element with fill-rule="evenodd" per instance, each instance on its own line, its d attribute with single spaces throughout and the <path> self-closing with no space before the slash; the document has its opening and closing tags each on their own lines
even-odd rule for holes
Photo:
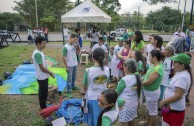
<svg viewBox="0 0 194 126">
<path fill-rule="evenodd" d="M 13 8 L 29 26 L 35 27 L 35 1 L 21 0 L 15 1 L 16 6 Z M 70 0 L 37 0 L 38 20 L 40 27 L 49 25 L 50 30 L 56 30 L 60 27 L 61 16 L 72 9 L 74 4 Z M 50 25 L 54 24 L 54 25 Z"/>
</svg>

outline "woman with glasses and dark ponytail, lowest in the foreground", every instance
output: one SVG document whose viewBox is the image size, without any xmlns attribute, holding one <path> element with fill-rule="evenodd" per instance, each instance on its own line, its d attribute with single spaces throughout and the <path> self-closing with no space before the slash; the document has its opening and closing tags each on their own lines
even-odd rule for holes
<svg viewBox="0 0 194 126">
<path fill-rule="evenodd" d="M 111 126 L 118 117 L 119 108 L 124 105 L 124 99 L 117 99 L 114 89 L 104 90 L 98 97 L 98 105 L 101 109 L 97 126 Z"/>
</svg>

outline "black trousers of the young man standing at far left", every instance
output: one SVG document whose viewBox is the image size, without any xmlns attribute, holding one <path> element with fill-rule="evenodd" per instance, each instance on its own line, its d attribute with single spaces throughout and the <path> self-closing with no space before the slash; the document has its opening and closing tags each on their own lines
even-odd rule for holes
<svg viewBox="0 0 194 126">
<path fill-rule="evenodd" d="M 38 99 L 39 99 L 39 104 L 40 108 L 44 109 L 46 108 L 46 100 L 48 96 L 48 78 L 45 80 L 37 80 L 38 85 L 39 85 L 39 90 L 38 90 Z"/>
</svg>

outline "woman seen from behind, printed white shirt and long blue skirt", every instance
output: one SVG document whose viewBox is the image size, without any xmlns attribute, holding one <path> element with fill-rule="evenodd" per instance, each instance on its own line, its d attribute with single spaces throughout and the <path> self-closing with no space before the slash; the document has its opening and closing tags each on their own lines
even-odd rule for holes
<svg viewBox="0 0 194 126">
<path fill-rule="evenodd" d="M 107 89 L 109 68 L 104 66 L 105 52 L 102 48 L 93 51 L 92 59 L 94 66 L 86 68 L 84 72 L 83 87 L 86 92 L 85 98 L 88 113 L 85 114 L 85 122 L 88 126 L 96 126 L 100 114 L 97 97 Z"/>
</svg>

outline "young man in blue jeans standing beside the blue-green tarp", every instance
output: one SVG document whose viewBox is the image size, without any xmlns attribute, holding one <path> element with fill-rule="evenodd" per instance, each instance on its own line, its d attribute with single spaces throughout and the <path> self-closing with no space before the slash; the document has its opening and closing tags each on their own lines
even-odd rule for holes
<svg viewBox="0 0 194 126">
<path fill-rule="evenodd" d="M 70 36 L 69 42 L 63 46 L 63 62 L 67 70 L 67 97 L 72 98 L 71 91 L 79 90 L 75 86 L 76 76 L 77 76 L 77 56 L 76 48 L 74 43 L 78 41 L 76 34 Z"/>
</svg>

